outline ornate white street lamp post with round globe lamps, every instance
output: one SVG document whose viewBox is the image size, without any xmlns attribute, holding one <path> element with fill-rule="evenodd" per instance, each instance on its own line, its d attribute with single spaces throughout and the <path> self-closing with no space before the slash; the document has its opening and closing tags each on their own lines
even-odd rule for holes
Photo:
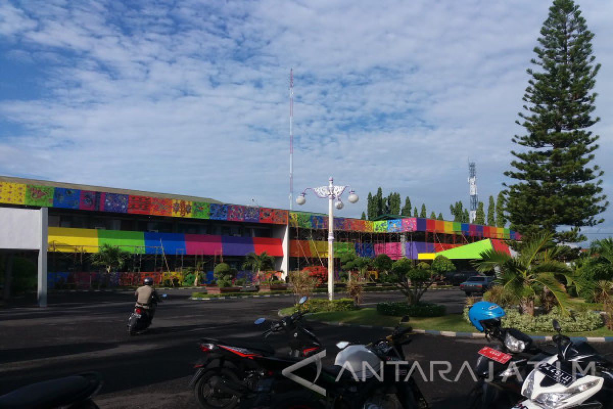
<svg viewBox="0 0 613 409">
<path fill-rule="evenodd" d="M 306 188 L 296 198 L 296 203 L 299 205 L 305 204 L 307 199 L 307 190 L 312 190 L 315 196 L 320 199 L 328 199 L 328 297 L 334 299 L 334 208 L 338 210 L 345 207 L 341 201 L 341 196 L 349 186 L 334 186 L 334 179 L 330 176 L 328 186 L 320 186 L 319 188 Z M 334 202 L 336 199 L 336 203 Z M 353 190 L 349 191 L 348 200 L 350 203 L 356 203 L 358 197 Z"/>
</svg>

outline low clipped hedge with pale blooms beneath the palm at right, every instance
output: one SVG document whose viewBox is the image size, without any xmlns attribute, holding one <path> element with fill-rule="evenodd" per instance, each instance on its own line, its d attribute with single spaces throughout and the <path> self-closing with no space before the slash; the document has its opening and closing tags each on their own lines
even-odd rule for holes
<svg viewBox="0 0 613 409">
<path fill-rule="evenodd" d="M 504 310 L 506 315 L 502 319 L 505 328 L 517 328 L 522 332 L 554 332 L 552 321 L 558 320 L 562 332 L 593 331 L 603 326 L 600 314 L 593 311 L 573 311 L 571 315 L 560 315 L 558 307 L 554 307 L 550 313 L 541 315 L 520 314 L 512 308 Z M 464 308 L 463 317 L 467 323 L 468 307 Z"/>
</svg>

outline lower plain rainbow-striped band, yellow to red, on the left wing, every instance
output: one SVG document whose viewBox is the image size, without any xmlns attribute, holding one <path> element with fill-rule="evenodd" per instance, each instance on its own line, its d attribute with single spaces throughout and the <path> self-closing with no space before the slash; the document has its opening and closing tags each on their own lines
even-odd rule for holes
<svg viewBox="0 0 613 409">
<path fill-rule="evenodd" d="M 268 237 L 234 237 L 208 234 L 148 233 L 96 229 L 49 227 L 49 251 L 97 253 L 102 245 L 120 247 L 130 253 L 167 255 L 197 254 L 245 256 L 263 251 L 283 257 L 281 239 Z"/>
</svg>

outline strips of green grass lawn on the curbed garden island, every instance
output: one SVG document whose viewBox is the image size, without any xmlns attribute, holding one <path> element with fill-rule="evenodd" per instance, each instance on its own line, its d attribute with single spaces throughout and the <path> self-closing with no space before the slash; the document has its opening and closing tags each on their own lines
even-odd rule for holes
<svg viewBox="0 0 613 409">
<path fill-rule="evenodd" d="M 284 308 L 290 312 L 291 308 Z M 342 312 L 321 312 L 310 315 L 310 319 L 324 322 L 337 322 L 346 324 L 372 325 L 381 327 L 394 327 L 398 324 L 400 317 L 379 315 L 375 308 L 362 308 L 356 311 Z M 434 331 L 452 331 L 452 332 L 477 332 L 477 330 L 466 323 L 462 318 L 462 314 L 449 314 L 445 316 L 432 318 L 411 318 L 408 322 L 413 329 L 432 329 Z M 552 332 L 538 333 L 530 335 L 554 335 Z M 565 335 L 569 337 L 612 337 L 613 331 L 609 331 L 605 327 L 596 329 L 591 332 L 567 332 Z"/>
</svg>

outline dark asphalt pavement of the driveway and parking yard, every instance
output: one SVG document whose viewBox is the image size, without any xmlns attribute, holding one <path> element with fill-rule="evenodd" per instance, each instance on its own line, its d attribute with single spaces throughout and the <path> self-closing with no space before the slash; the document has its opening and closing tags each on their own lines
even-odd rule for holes
<svg viewBox="0 0 613 409">
<path fill-rule="evenodd" d="M 279 308 L 292 304 L 292 297 L 267 297 L 191 301 L 189 291 L 168 291 L 159 305 L 153 326 L 146 334 L 129 337 L 126 320 L 134 305 L 130 293 L 62 294 L 50 296 L 50 307 L 15 307 L 0 310 L 0 394 L 28 383 L 96 370 L 104 387 L 96 402 L 101 408 L 197 408 L 187 389 L 192 364 L 200 354 L 200 337 L 259 339 L 261 329 L 254 319 L 275 319 Z M 365 303 L 400 300 L 397 293 L 368 294 Z M 459 312 L 463 293 L 431 291 L 425 295 Z M 369 342 L 383 330 L 333 327 L 314 324 L 314 331 L 329 351 L 340 340 Z M 432 361 L 450 361 L 447 378 L 455 378 L 462 363 L 473 362 L 486 342 L 433 335 L 414 335 L 406 356 L 422 364 L 428 381 L 418 380 L 433 408 L 461 407 L 471 386 L 463 372 L 457 382 L 446 382 L 438 374 L 444 367 Z M 283 339 L 273 345 L 280 347 Z M 596 345 L 604 352 L 608 345 Z M 330 354 L 333 355 L 333 354 Z M 329 359 L 333 359 L 330 356 Z"/>
</svg>

